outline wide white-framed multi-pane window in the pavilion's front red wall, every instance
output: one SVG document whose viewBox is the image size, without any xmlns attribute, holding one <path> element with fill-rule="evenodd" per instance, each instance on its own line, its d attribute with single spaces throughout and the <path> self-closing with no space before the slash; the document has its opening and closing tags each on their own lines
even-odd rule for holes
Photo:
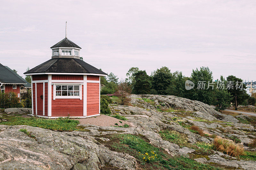
<svg viewBox="0 0 256 170">
<path fill-rule="evenodd" d="M 56 85 L 56 96 L 80 96 L 79 85 Z"/>
</svg>

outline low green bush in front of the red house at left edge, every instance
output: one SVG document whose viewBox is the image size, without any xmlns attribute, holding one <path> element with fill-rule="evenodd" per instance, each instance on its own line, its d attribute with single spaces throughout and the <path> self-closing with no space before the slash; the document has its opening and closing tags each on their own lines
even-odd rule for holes
<svg viewBox="0 0 256 170">
<path fill-rule="evenodd" d="M 0 92 L 0 108 L 23 107 L 20 98 L 14 92 Z"/>
</svg>

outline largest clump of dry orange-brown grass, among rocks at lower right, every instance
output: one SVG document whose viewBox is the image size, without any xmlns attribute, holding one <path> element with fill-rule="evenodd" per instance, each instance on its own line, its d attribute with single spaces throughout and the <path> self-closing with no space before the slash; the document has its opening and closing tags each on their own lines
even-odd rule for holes
<svg viewBox="0 0 256 170">
<path fill-rule="evenodd" d="M 235 144 L 234 142 L 228 141 L 220 137 L 216 137 L 214 139 L 213 146 L 217 151 L 226 153 L 232 157 L 239 158 L 240 155 L 245 154 L 243 147 L 239 146 L 238 144 Z"/>
</svg>

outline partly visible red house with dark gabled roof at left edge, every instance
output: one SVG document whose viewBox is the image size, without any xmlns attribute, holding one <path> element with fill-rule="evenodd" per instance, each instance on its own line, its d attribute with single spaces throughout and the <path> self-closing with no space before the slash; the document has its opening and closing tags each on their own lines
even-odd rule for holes
<svg viewBox="0 0 256 170">
<path fill-rule="evenodd" d="M 15 92 L 20 98 L 20 88 L 31 88 L 31 85 L 16 72 L 0 63 L 0 92 Z"/>
</svg>

